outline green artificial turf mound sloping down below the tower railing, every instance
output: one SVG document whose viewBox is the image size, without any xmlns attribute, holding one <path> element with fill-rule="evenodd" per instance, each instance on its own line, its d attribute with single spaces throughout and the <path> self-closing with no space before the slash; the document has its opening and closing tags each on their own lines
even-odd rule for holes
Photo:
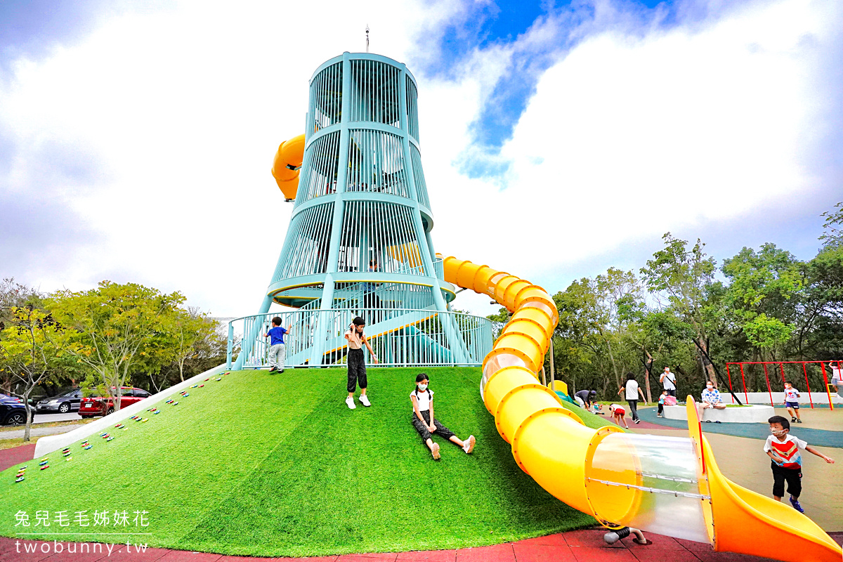
<svg viewBox="0 0 843 562">
<path fill-rule="evenodd" d="M 344 369 L 232 372 L 189 388 L 178 405 L 155 404 L 146 422 L 91 436 L 88 451 L 62 452 L 0 473 L 0 534 L 28 539 L 147 543 L 220 554 L 315 556 L 455 549 L 556 533 L 594 523 L 542 490 L 515 464 L 470 367 L 428 368 L 436 414 L 472 455 L 434 437 L 433 461 L 411 426 L 412 368 L 369 369 L 373 406 L 346 407 Z M 150 404 L 152 407 L 153 404 Z M 573 409 L 573 408 L 572 408 Z M 606 421 L 574 409 L 588 426 Z M 35 511 L 51 527 L 35 527 Z M 89 526 L 76 522 L 87 510 Z M 110 525 L 94 526 L 94 511 Z M 148 527 L 134 511 L 148 511 Z M 30 527 L 15 527 L 27 512 Z M 70 524 L 55 522 L 65 511 Z M 114 526 L 114 511 L 127 511 Z M 46 533 L 150 533 L 119 537 Z"/>
</svg>

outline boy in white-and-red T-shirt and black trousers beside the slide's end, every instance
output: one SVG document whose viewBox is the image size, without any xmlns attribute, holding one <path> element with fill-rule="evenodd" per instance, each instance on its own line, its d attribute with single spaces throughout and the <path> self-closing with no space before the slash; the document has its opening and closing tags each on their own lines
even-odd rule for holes
<svg viewBox="0 0 843 562">
<path fill-rule="evenodd" d="M 799 505 L 799 495 L 802 493 L 802 454 L 799 449 L 817 455 L 826 463 L 834 463 L 835 459 L 826 457 L 803 440 L 788 435 L 790 422 L 787 418 L 774 415 L 767 420 L 767 423 L 770 424 L 772 435 L 767 437 L 764 452 L 773 461 L 770 465 L 773 471 L 773 499 L 781 501 L 785 495 L 785 482 L 787 482 L 787 493 L 791 495 L 793 509 L 804 513 L 805 510 Z"/>
</svg>

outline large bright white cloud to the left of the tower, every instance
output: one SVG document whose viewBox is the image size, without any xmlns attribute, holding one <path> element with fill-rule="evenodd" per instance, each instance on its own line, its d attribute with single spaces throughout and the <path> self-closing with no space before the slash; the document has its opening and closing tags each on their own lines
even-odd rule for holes
<svg viewBox="0 0 843 562">
<path fill-rule="evenodd" d="M 67 263 L 32 255 L 4 275 L 82 288 L 102 277 L 179 289 L 217 314 L 252 313 L 292 207 L 269 174 L 298 135 L 321 62 L 362 51 L 403 60 L 416 34 L 454 8 L 371 2 L 180 3 L 104 19 L 78 45 L 13 62 L 0 126 L 17 153 L 3 190 L 41 189 L 46 145 L 94 155 L 85 185 L 43 186 L 103 234 Z M 93 184 L 93 185 L 90 185 Z"/>
</svg>

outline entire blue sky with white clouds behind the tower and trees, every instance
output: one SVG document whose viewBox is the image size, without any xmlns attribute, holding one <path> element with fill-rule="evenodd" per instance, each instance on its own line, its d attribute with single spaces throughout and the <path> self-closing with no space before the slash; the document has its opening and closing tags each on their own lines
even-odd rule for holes
<svg viewBox="0 0 843 562">
<path fill-rule="evenodd" d="M 314 18 L 318 41 L 291 23 Z M 765 242 L 807 260 L 843 198 L 831 0 L 6 2 L 0 275 L 250 313 L 291 211 L 268 162 L 314 68 L 362 50 L 365 24 L 418 79 L 443 253 L 551 291 L 640 267 L 668 230 L 718 260 Z M 221 255 L 248 264 L 236 289 L 209 273 Z"/>
</svg>

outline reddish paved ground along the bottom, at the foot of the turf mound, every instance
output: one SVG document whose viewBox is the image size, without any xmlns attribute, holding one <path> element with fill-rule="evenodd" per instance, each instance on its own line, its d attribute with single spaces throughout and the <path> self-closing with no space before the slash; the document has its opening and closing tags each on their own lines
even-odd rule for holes
<svg viewBox="0 0 843 562">
<path fill-rule="evenodd" d="M 56 554 L 53 543 L 35 544 L 39 552 L 20 554 L 14 538 L 0 538 L 0 562 L 589 562 L 619 560 L 621 562 L 763 562 L 769 560 L 755 556 L 716 553 L 707 544 L 691 543 L 674 538 L 647 533 L 652 544 L 641 546 L 625 538 L 614 545 L 603 541 L 603 530 L 584 529 L 529 538 L 517 543 L 503 543 L 495 546 L 475 549 L 430 550 L 427 552 L 402 552 L 388 554 L 344 554 L 342 556 L 322 556 L 319 558 L 248 558 L 244 556 L 223 556 L 221 554 L 191 553 L 185 550 L 147 549 L 137 554 L 118 552 L 126 545 L 118 544 L 109 555 L 107 549 L 94 554 L 68 554 L 67 544 L 62 544 L 64 552 Z M 843 533 L 834 536 L 838 543 L 843 542 Z M 28 541 L 30 545 L 35 541 Z M 46 552 L 42 552 L 43 550 Z M 72 543 L 75 549 L 81 545 Z M 89 547 L 93 546 L 89 544 Z M 31 548 L 31 546 L 30 546 Z"/>
</svg>

